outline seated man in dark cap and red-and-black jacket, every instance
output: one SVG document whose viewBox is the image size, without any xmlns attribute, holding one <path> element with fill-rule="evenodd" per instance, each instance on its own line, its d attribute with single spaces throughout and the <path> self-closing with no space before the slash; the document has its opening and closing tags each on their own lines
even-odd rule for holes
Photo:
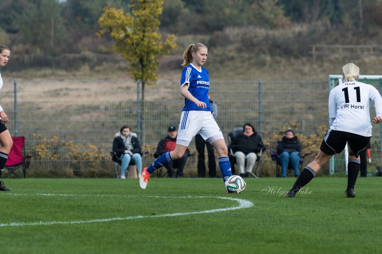
<svg viewBox="0 0 382 254">
<path fill-rule="evenodd" d="M 173 151 L 176 146 L 177 135 L 178 135 L 178 131 L 176 130 L 175 126 L 172 125 L 168 127 L 167 137 L 159 141 L 157 145 L 156 153 L 158 153 L 160 156 L 164 153 Z M 183 175 L 183 169 L 185 168 L 188 154 L 189 154 L 189 150 L 187 149 L 182 158 L 180 158 L 179 160 L 174 160 L 168 163 L 167 165 L 164 165 L 165 168 L 167 168 L 167 174 L 169 177 L 175 177 L 174 168 L 178 169 L 176 170 L 176 177 L 181 177 Z"/>
</svg>

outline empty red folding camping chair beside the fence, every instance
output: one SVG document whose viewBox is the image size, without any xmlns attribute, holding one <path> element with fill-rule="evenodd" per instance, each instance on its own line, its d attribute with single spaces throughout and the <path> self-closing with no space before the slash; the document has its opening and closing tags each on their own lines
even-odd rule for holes
<svg viewBox="0 0 382 254">
<path fill-rule="evenodd" d="M 13 174 L 17 178 L 25 178 L 25 170 L 29 168 L 32 156 L 24 154 L 25 137 L 12 137 L 13 145 L 8 154 L 8 160 L 5 163 L 4 169 L 8 170 L 2 178 Z M 21 176 L 16 173 L 16 170 L 22 168 Z"/>
</svg>

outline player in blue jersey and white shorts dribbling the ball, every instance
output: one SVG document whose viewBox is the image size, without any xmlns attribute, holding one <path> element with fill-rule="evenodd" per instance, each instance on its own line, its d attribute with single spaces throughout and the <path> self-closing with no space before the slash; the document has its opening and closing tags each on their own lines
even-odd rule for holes
<svg viewBox="0 0 382 254">
<path fill-rule="evenodd" d="M 142 169 L 139 178 L 139 186 L 144 190 L 149 182 L 151 174 L 170 163 L 180 159 L 185 153 L 191 139 L 199 133 L 204 140 L 208 140 L 219 155 L 219 167 L 223 181 L 231 176 L 231 165 L 228 160 L 228 149 L 225 144 L 222 131 L 212 117 L 212 109 L 209 104 L 208 91 L 210 81 L 208 71 L 202 67 L 207 60 L 207 47 L 201 43 L 191 44 L 183 53 L 183 69 L 180 79 L 180 94 L 185 97 L 176 147 L 172 152 L 164 153 L 155 160 L 148 168 Z"/>
</svg>

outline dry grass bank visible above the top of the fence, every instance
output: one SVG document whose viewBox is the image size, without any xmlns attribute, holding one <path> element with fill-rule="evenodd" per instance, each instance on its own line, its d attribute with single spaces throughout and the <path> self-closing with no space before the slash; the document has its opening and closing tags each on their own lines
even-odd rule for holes
<svg viewBox="0 0 382 254">
<path fill-rule="evenodd" d="M 227 53 L 227 54 L 226 54 Z M 329 74 L 340 74 L 342 66 L 348 62 L 358 65 L 361 74 L 380 75 L 382 56 L 359 57 L 321 57 L 313 61 L 311 56 L 302 58 L 269 57 L 266 61 L 250 54 L 229 52 L 209 53 L 203 66 L 209 70 L 210 80 L 327 80 Z M 84 65 L 80 69 L 65 71 L 50 68 L 31 68 L 19 72 L 7 72 L 4 80 L 132 80 L 127 73 L 128 63 L 124 59 L 118 66 L 100 64 L 94 69 Z M 181 55 L 164 56 L 159 60 L 158 80 L 179 80 L 181 74 Z M 10 61 L 11 64 L 11 61 Z"/>
</svg>

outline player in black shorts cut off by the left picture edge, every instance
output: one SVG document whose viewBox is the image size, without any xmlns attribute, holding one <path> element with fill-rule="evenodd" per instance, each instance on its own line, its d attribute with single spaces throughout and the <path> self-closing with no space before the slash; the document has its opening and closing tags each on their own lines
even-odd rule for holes
<svg viewBox="0 0 382 254">
<path fill-rule="evenodd" d="M 4 45 L 0 45 L 0 66 L 5 66 L 8 62 L 11 50 Z M 3 79 L 0 74 L 0 89 L 3 86 Z M 3 172 L 6 161 L 8 160 L 8 153 L 11 150 L 13 141 L 11 134 L 5 126 L 5 123 L 8 121 L 8 117 L 4 112 L 3 108 L 0 106 L 0 177 Z M 0 191 L 10 191 L 10 189 L 4 186 L 3 181 L 0 181 Z"/>
</svg>

